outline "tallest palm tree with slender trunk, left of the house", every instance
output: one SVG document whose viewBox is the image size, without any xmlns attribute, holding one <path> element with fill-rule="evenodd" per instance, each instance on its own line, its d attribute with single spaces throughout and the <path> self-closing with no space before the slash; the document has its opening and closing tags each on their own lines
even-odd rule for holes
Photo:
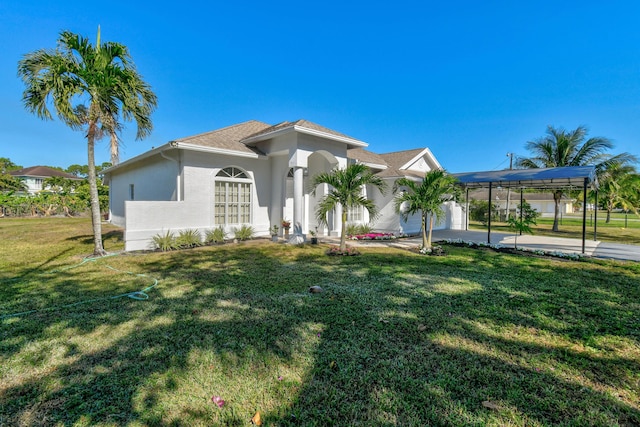
<svg viewBox="0 0 640 427">
<path fill-rule="evenodd" d="M 100 28 L 95 46 L 84 37 L 69 31 L 61 32 L 58 48 L 26 54 L 18 63 L 18 75 L 26 86 L 23 102 L 28 111 L 41 119 L 51 120 L 53 117 L 48 108 L 51 103 L 66 125 L 86 132 L 94 255 L 105 255 L 95 142 L 105 131 L 109 134 L 117 132 L 121 115 L 125 121 L 136 122 L 136 139 L 149 135 L 152 129 L 150 116 L 157 98 L 136 71 L 126 46 L 100 43 Z"/>
</svg>

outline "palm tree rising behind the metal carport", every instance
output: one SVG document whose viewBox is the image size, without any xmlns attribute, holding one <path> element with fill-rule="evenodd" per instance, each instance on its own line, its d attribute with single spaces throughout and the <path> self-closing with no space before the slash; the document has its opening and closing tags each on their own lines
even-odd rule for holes
<svg viewBox="0 0 640 427">
<path fill-rule="evenodd" d="M 605 152 L 613 148 L 613 143 L 604 137 L 593 137 L 585 141 L 587 128 L 578 126 L 575 130 L 547 127 L 547 135 L 525 145 L 533 156 L 518 158 L 516 166 L 520 168 L 556 168 L 564 166 L 601 166 L 607 161 Z M 560 199 L 562 189 L 553 192 L 555 213 L 553 231 L 559 231 Z"/>
</svg>

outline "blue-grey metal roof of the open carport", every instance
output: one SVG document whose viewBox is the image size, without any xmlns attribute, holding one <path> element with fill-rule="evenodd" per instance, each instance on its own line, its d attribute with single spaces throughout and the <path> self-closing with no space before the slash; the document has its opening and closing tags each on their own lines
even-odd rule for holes
<svg viewBox="0 0 640 427">
<path fill-rule="evenodd" d="M 525 188 L 582 188 L 587 184 L 598 187 L 595 166 L 565 166 L 560 168 L 507 169 L 501 171 L 465 172 L 452 174 L 467 188 L 503 187 Z"/>
</svg>

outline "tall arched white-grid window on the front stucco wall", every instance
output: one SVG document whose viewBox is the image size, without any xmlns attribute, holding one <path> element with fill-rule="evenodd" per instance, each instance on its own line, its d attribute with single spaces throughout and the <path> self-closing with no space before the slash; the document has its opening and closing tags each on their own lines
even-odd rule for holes
<svg viewBox="0 0 640 427">
<path fill-rule="evenodd" d="M 242 169 L 221 169 L 215 179 L 214 222 L 216 225 L 251 223 L 251 179 Z"/>
</svg>

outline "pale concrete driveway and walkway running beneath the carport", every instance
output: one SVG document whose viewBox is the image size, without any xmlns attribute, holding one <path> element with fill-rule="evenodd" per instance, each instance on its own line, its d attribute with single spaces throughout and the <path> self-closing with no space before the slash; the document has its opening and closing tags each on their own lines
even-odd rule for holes
<svg viewBox="0 0 640 427">
<path fill-rule="evenodd" d="M 432 240 L 464 240 L 477 243 L 487 242 L 487 232 L 480 230 L 434 230 Z M 326 240 L 326 238 L 323 238 Z M 337 239 L 339 241 L 339 239 Z M 491 233 L 491 243 L 504 246 L 513 246 L 515 236 L 507 233 Z M 356 246 L 390 246 L 396 248 L 409 248 L 419 246 L 422 243 L 420 237 L 411 237 L 398 240 L 349 240 L 349 245 Z M 582 239 L 567 239 L 563 237 L 548 236 L 518 236 L 518 247 L 543 250 L 546 252 L 582 253 Z M 587 239 L 585 241 L 585 255 L 594 258 L 619 259 L 640 262 L 640 246 L 624 245 Z"/>
</svg>

